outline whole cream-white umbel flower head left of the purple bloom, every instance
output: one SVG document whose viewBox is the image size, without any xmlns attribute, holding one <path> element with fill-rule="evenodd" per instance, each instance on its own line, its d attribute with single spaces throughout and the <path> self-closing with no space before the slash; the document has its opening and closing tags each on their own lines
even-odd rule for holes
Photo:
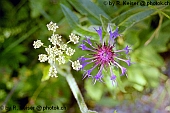
<svg viewBox="0 0 170 113">
<path fill-rule="evenodd" d="M 51 42 L 50 45 L 44 46 L 41 40 L 34 41 L 33 46 L 34 48 L 40 48 L 41 46 L 45 47 L 46 54 L 39 54 L 38 60 L 40 62 L 48 62 L 50 64 L 49 73 L 50 77 L 58 77 L 57 76 L 57 69 L 56 65 L 65 64 L 68 61 L 72 63 L 72 67 L 74 70 L 79 70 L 82 68 L 79 60 L 71 61 L 71 57 L 75 53 L 75 49 L 68 47 L 70 42 L 77 44 L 79 42 L 79 36 L 76 36 L 74 33 L 69 35 L 70 40 L 68 42 L 62 41 L 62 36 L 55 33 L 56 29 L 59 28 L 56 23 L 52 21 L 46 25 L 49 31 L 53 31 L 52 35 L 48 38 Z"/>
</svg>

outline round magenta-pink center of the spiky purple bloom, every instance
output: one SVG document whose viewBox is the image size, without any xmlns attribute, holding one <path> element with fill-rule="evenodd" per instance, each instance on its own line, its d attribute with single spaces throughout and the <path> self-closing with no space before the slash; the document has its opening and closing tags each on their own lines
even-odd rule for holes
<svg viewBox="0 0 170 113">
<path fill-rule="evenodd" d="M 94 55 L 98 63 L 102 65 L 108 65 L 110 62 L 114 61 L 114 52 L 112 50 L 113 46 L 109 47 L 103 45 L 97 49 L 97 53 Z"/>
</svg>

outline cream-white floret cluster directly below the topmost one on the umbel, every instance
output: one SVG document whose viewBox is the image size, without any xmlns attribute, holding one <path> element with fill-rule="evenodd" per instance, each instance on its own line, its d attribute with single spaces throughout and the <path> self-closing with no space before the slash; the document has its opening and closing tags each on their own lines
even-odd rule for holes
<svg viewBox="0 0 170 113">
<path fill-rule="evenodd" d="M 53 44 L 53 45 L 59 45 L 61 44 L 61 36 L 58 34 L 53 34 L 51 38 L 48 38 L 48 40 Z"/>
</svg>

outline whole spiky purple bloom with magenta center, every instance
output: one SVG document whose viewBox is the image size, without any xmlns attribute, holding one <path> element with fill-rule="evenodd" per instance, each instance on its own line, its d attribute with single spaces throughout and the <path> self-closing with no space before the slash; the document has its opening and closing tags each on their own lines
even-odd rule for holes
<svg viewBox="0 0 170 113">
<path fill-rule="evenodd" d="M 125 52 L 126 54 L 129 53 L 129 51 L 131 50 L 131 48 L 129 46 L 126 46 L 124 49 L 122 50 L 113 50 L 115 45 L 113 44 L 115 39 L 120 36 L 120 34 L 118 33 L 118 28 L 116 28 L 115 31 L 112 31 L 112 28 L 110 25 L 108 25 L 109 27 L 109 41 L 108 43 L 104 42 L 102 39 L 102 28 L 99 27 L 99 29 L 96 29 L 96 32 L 98 33 L 99 37 L 100 37 L 100 44 L 97 44 L 97 46 L 93 46 L 92 42 L 90 40 L 89 37 L 85 37 L 86 40 L 83 40 L 83 43 L 80 44 L 79 48 L 81 48 L 82 50 L 87 50 L 90 51 L 91 54 L 88 54 L 87 56 L 89 56 L 88 58 L 86 58 L 85 56 L 81 56 L 79 58 L 81 65 L 82 65 L 82 70 L 84 70 L 84 67 L 88 64 L 93 63 L 93 67 L 91 69 L 85 70 L 84 74 L 83 74 L 83 79 L 86 77 L 92 77 L 94 84 L 96 83 L 96 81 L 99 82 L 103 82 L 102 78 L 104 77 L 102 75 L 102 70 L 104 68 L 108 68 L 110 69 L 110 80 L 112 81 L 112 84 L 117 84 L 116 82 L 116 75 L 113 73 L 113 67 L 118 67 L 121 69 L 121 75 L 125 75 L 127 69 L 123 66 L 121 66 L 118 63 L 119 61 L 123 61 L 125 63 L 127 63 L 128 66 L 130 66 L 131 61 L 130 59 L 122 59 L 118 57 L 118 53 L 119 52 Z M 98 68 L 98 72 L 95 76 L 93 76 L 91 74 L 91 72 L 95 69 Z"/>
</svg>

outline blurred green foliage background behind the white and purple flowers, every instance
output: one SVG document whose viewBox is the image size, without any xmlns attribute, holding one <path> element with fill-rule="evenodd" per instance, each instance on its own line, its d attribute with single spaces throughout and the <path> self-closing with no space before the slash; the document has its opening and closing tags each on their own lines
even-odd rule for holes
<svg viewBox="0 0 170 113">
<path fill-rule="evenodd" d="M 120 77 L 117 87 L 109 80 L 105 80 L 106 84 L 93 85 L 91 79 L 82 80 L 81 71 L 72 70 L 88 108 L 100 113 L 113 113 L 114 110 L 117 113 L 170 112 L 168 15 L 170 6 L 165 5 L 111 6 L 107 0 L 0 0 L 0 105 L 15 105 L 21 109 L 54 105 L 67 109 L 45 112 L 80 113 L 63 76 L 41 82 L 48 64 L 37 60 L 38 54 L 45 51 L 35 50 L 33 41 L 40 39 L 49 44 L 51 32 L 46 24 L 53 21 L 59 25 L 57 33 L 65 41 L 74 32 L 81 40 L 91 35 L 98 42 L 91 27 L 105 27 L 111 22 L 119 26 L 122 34 L 117 39 L 118 47 L 132 46 L 130 56 L 134 64 L 128 67 L 128 78 Z M 76 49 L 73 60 L 84 54 L 78 45 L 71 46 Z"/>
</svg>

